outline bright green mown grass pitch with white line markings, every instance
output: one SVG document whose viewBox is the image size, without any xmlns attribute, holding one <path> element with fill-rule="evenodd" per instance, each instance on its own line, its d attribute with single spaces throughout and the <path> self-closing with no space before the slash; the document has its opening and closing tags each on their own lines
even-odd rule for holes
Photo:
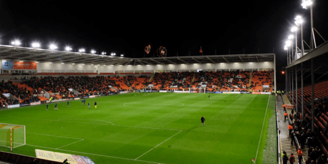
<svg viewBox="0 0 328 164">
<path fill-rule="evenodd" d="M 70 100 L 58 110 L 49 104 L 49 111 L 46 105 L 0 111 L 0 122 L 26 126 L 27 145 L 13 150 L 29 156 L 41 149 L 97 164 L 252 163 L 258 152 L 261 161 L 270 95 L 210 95 L 131 93 L 89 98 L 83 106 Z"/>
</svg>

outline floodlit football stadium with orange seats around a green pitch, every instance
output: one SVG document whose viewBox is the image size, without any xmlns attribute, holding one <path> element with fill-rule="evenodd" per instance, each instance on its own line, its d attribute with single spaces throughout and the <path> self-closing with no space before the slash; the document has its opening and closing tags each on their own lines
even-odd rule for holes
<svg viewBox="0 0 328 164">
<path fill-rule="evenodd" d="M 0 39 L 0 163 L 327 163 L 328 42 L 298 5 L 282 53 Z"/>
</svg>

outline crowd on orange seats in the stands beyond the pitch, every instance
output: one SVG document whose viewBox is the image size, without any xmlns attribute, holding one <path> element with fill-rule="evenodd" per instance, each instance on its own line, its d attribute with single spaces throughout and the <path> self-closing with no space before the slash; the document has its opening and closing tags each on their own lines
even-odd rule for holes
<svg viewBox="0 0 328 164">
<path fill-rule="evenodd" d="M 258 73 L 260 75 L 260 73 Z M 268 79 L 268 78 L 265 78 Z M 18 79 L 16 79 L 18 80 Z M 155 73 L 153 78 L 146 75 L 140 76 L 39 76 L 23 77 L 17 84 L 12 81 L 0 83 L 1 93 L 10 93 L 17 99 L 0 97 L 2 105 L 25 104 L 35 101 L 49 100 L 46 93 L 50 94 L 51 100 L 61 98 L 74 98 L 88 95 L 102 95 L 129 90 L 146 89 L 153 85 L 153 90 L 188 90 L 206 85 L 206 91 L 246 91 L 243 86 L 248 85 L 249 72 L 167 72 Z M 264 80 L 264 77 L 263 77 Z M 110 87 L 109 87 L 110 86 Z M 173 88 L 174 87 L 174 88 Z M 74 89 L 77 92 L 69 91 Z"/>
</svg>

